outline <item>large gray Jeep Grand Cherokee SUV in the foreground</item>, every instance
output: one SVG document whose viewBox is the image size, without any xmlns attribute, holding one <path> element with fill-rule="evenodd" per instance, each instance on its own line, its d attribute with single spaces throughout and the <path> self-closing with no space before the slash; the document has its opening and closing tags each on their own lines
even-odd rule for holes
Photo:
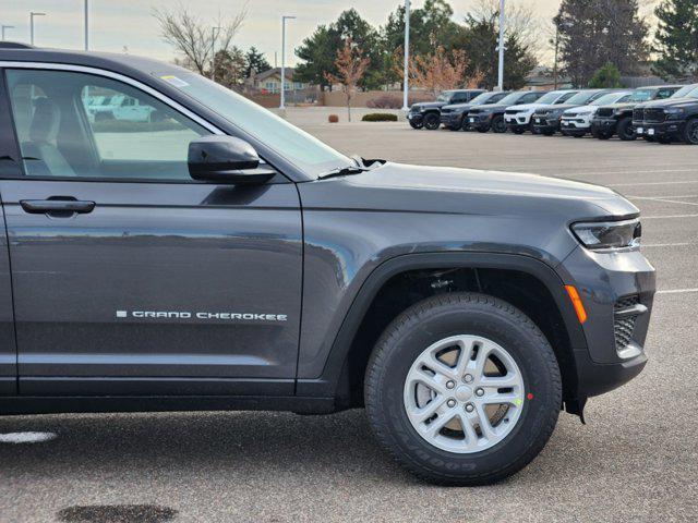
<svg viewBox="0 0 698 523">
<path fill-rule="evenodd" d="M 352 159 L 125 54 L 0 49 L 0 129 L 1 414 L 365 408 L 477 485 L 645 366 L 611 190 Z"/>
</svg>

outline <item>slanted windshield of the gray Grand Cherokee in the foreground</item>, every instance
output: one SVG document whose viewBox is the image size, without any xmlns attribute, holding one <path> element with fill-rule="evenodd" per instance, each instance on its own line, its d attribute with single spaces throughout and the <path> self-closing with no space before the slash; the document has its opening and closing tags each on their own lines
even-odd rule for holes
<svg viewBox="0 0 698 523">
<path fill-rule="evenodd" d="M 272 111 L 198 74 L 178 71 L 177 75 L 166 73 L 157 76 L 254 136 L 310 175 L 317 177 L 334 168 L 356 165 Z"/>
</svg>

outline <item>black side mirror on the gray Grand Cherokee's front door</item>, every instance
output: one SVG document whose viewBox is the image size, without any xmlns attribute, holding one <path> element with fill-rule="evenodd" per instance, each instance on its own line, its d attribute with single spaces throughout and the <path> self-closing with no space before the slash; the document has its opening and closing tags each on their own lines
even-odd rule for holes
<svg viewBox="0 0 698 523">
<path fill-rule="evenodd" d="M 264 183 L 276 174 L 260 168 L 256 150 L 245 141 L 217 134 L 190 142 L 188 165 L 190 177 L 203 182 Z"/>
</svg>

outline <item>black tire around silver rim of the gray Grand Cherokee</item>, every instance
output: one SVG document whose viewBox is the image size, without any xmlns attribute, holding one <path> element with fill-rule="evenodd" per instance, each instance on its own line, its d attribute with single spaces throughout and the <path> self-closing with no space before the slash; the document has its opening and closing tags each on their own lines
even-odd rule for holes
<svg viewBox="0 0 698 523">
<path fill-rule="evenodd" d="M 493 447 L 474 453 L 438 449 L 412 427 L 404 404 L 406 376 L 429 345 L 471 333 L 498 343 L 516 361 L 527 397 L 516 426 Z M 557 361 L 540 329 L 513 305 L 477 293 L 424 300 L 383 332 L 366 367 L 364 400 L 378 441 L 417 476 L 441 485 L 484 485 L 526 466 L 555 428 L 562 404 Z"/>
</svg>

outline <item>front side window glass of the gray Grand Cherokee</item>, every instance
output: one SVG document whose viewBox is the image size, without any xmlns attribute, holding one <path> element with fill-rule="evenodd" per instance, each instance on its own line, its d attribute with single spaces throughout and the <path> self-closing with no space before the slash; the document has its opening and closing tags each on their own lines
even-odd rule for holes
<svg viewBox="0 0 698 523">
<path fill-rule="evenodd" d="M 27 177 L 191 181 L 189 143 L 209 133 L 157 98 L 85 73 L 7 75 Z"/>
</svg>

